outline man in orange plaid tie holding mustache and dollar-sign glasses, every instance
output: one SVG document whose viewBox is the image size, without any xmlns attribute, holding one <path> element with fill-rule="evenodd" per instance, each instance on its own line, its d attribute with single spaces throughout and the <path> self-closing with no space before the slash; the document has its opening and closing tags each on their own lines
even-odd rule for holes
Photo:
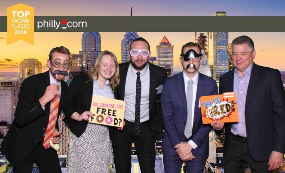
<svg viewBox="0 0 285 173">
<path fill-rule="evenodd" d="M 59 143 L 58 116 L 67 84 L 63 81 L 70 68 L 70 51 L 55 47 L 49 53 L 49 71 L 26 78 L 20 88 L 15 119 L 1 144 L 1 152 L 14 172 L 61 172 L 53 144 Z"/>
</svg>

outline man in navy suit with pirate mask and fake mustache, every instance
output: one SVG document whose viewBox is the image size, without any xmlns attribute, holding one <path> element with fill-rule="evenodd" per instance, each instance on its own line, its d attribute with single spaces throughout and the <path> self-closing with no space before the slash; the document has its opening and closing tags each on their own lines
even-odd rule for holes
<svg viewBox="0 0 285 173">
<path fill-rule="evenodd" d="M 161 93 L 164 122 L 162 140 L 165 173 L 180 172 L 186 162 L 187 172 L 203 172 L 209 155 L 210 125 L 202 124 L 200 97 L 217 95 L 214 79 L 198 72 L 201 48 L 193 42 L 181 49 L 183 72 L 165 80 Z"/>
</svg>

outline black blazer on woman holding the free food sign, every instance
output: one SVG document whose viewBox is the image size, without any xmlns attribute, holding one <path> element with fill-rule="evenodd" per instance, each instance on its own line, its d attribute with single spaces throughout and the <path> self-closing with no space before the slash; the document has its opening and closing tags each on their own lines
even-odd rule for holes
<svg viewBox="0 0 285 173">
<path fill-rule="evenodd" d="M 66 92 L 63 111 L 65 118 L 63 121 L 70 128 L 70 131 L 80 137 L 85 131 L 88 121 L 76 121 L 71 118 L 74 112 L 82 114 L 90 111 L 93 94 L 93 81 L 90 81 L 87 74 L 75 76 Z"/>
</svg>

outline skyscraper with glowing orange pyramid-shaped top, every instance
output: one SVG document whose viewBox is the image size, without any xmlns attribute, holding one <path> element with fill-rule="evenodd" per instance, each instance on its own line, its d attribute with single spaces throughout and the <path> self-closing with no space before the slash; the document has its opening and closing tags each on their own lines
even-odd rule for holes
<svg viewBox="0 0 285 173">
<path fill-rule="evenodd" d="M 159 45 L 156 46 L 157 65 L 165 69 L 170 67 L 171 76 L 173 75 L 173 47 L 165 35 Z M 166 68 L 166 66 L 168 67 Z"/>
</svg>

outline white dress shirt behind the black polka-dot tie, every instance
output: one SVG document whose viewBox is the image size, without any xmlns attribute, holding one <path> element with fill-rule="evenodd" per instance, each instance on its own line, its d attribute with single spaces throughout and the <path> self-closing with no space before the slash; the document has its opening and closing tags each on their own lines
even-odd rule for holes
<svg viewBox="0 0 285 173">
<path fill-rule="evenodd" d="M 126 109 L 125 109 L 125 119 L 130 122 L 135 122 L 135 106 L 136 106 L 136 83 L 137 83 L 137 70 L 130 63 L 126 85 L 125 85 L 125 98 Z M 140 112 L 140 122 L 145 122 L 149 120 L 149 68 L 148 64 L 142 71 L 140 71 L 140 78 L 142 84 L 141 90 L 141 112 Z"/>
</svg>

